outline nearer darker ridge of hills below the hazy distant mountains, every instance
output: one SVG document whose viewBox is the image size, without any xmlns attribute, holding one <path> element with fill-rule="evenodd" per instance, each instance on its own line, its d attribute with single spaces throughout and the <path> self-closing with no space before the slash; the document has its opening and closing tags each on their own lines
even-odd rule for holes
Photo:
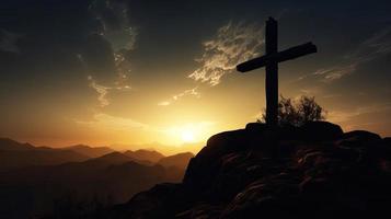
<svg viewBox="0 0 391 219">
<path fill-rule="evenodd" d="M 0 172 L 0 218 L 79 218 L 94 208 L 124 203 L 157 183 L 180 182 L 183 174 L 183 170 L 142 165 L 119 152 Z"/>
</svg>

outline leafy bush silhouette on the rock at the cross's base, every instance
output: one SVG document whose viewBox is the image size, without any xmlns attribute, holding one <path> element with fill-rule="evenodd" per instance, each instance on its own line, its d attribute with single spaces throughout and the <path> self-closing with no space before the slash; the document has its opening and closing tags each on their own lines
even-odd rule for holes
<svg viewBox="0 0 391 219">
<path fill-rule="evenodd" d="M 302 95 L 298 101 L 286 99 L 283 95 L 278 102 L 278 125 L 302 126 L 313 120 L 324 120 L 325 111 L 315 102 L 314 96 Z M 257 119 L 258 123 L 266 120 L 266 113 Z"/>
</svg>

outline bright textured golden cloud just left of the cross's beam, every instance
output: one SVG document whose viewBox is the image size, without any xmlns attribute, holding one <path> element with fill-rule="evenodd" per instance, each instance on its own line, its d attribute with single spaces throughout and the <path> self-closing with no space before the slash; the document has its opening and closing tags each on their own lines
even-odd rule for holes
<svg viewBox="0 0 391 219">
<path fill-rule="evenodd" d="M 217 85 L 238 64 L 258 56 L 263 46 L 262 26 L 229 22 L 218 28 L 214 39 L 203 43 L 204 53 L 196 59 L 200 67 L 188 74 L 188 78 Z"/>
</svg>

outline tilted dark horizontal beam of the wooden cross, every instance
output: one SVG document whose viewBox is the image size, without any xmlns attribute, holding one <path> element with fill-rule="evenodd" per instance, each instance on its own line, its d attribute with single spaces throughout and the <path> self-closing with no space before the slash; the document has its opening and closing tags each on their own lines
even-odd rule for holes
<svg viewBox="0 0 391 219">
<path fill-rule="evenodd" d="M 317 46 L 313 45 L 311 42 L 309 42 L 276 54 L 265 55 L 258 58 L 251 59 L 249 61 L 238 65 L 237 70 L 240 72 L 246 72 L 257 68 L 262 68 L 266 66 L 267 62 L 269 61 L 277 61 L 277 62 L 287 61 L 301 56 L 306 56 L 308 54 L 317 53 L 317 50 L 318 50 Z"/>
</svg>

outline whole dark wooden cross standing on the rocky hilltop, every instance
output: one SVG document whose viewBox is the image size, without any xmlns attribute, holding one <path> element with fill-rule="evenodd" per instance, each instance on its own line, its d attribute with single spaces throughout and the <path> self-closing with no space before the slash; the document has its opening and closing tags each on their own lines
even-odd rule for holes
<svg viewBox="0 0 391 219">
<path fill-rule="evenodd" d="M 266 21 L 266 54 L 262 57 L 248 60 L 237 66 L 240 72 L 257 68 L 266 68 L 266 124 L 278 124 L 278 62 L 295 59 L 308 54 L 317 53 L 317 46 L 311 42 L 278 51 L 277 21 L 272 16 Z"/>
</svg>

